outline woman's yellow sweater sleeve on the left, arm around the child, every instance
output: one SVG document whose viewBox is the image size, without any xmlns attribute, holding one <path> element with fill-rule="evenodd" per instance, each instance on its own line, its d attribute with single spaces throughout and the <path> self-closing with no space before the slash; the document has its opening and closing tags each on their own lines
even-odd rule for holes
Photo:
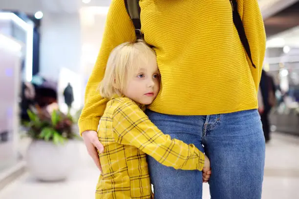
<svg viewBox="0 0 299 199">
<path fill-rule="evenodd" d="M 117 45 L 134 39 L 134 26 L 128 16 L 124 0 L 112 0 L 107 13 L 101 49 L 86 85 L 85 105 L 78 122 L 80 135 L 86 130 L 97 130 L 106 108 L 107 99 L 100 96 L 97 88 L 104 78 L 110 52 Z"/>
</svg>

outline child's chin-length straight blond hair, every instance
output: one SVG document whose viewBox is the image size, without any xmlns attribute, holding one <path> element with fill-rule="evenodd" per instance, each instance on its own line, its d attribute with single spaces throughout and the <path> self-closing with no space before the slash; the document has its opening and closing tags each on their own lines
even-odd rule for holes
<svg viewBox="0 0 299 199">
<path fill-rule="evenodd" d="M 140 67 L 153 61 L 156 64 L 155 52 L 142 40 L 115 47 L 110 53 L 105 75 L 99 86 L 101 96 L 107 99 L 116 94 L 121 96 L 128 78 Z"/>
</svg>

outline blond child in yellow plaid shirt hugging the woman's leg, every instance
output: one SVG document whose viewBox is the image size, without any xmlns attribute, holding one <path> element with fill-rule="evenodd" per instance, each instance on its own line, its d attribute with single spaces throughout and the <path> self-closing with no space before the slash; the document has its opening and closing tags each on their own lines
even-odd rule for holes
<svg viewBox="0 0 299 199">
<path fill-rule="evenodd" d="M 157 96 L 159 81 L 155 53 L 143 41 L 111 52 L 100 84 L 109 101 L 98 126 L 105 150 L 99 154 L 96 199 L 151 199 L 146 154 L 175 169 L 205 168 L 204 181 L 210 178 L 210 161 L 201 151 L 163 134 L 143 112 Z"/>
</svg>

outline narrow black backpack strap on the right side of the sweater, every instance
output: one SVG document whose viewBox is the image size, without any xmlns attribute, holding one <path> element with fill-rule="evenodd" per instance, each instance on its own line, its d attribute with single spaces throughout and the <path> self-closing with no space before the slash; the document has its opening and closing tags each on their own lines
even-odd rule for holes
<svg viewBox="0 0 299 199">
<path fill-rule="evenodd" d="M 233 9 L 233 21 L 234 21 L 234 24 L 235 24 L 235 28 L 237 29 L 238 31 L 238 34 L 239 34 L 239 38 L 242 42 L 242 45 L 251 61 L 251 64 L 254 68 L 256 68 L 256 65 L 254 64 L 253 60 L 252 60 L 252 56 L 251 56 L 251 51 L 250 51 L 250 46 L 249 46 L 249 42 L 248 42 L 248 39 L 246 37 L 246 33 L 245 33 L 245 29 L 244 29 L 244 26 L 243 26 L 243 23 L 242 23 L 242 19 L 238 13 L 238 10 L 237 10 L 237 7 L 238 7 L 238 4 L 236 2 L 236 0 L 230 0 L 231 1 L 231 4 L 232 4 L 232 9 Z"/>
</svg>

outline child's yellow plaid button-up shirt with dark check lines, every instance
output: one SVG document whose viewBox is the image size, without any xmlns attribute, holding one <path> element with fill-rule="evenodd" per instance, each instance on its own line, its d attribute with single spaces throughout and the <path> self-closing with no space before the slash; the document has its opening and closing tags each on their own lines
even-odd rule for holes
<svg viewBox="0 0 299 199">
<path fill-rule="evenodd" d="M 98 126 L 104 145 L 99 155 L 103 172 L 96 199 L 150 199 L 151 185 L 146 154 L 175 169 L 202 170 L 204 155 L 193 144 L 163 134 L 128 98 L 115 98 Z"/>
</svg>

